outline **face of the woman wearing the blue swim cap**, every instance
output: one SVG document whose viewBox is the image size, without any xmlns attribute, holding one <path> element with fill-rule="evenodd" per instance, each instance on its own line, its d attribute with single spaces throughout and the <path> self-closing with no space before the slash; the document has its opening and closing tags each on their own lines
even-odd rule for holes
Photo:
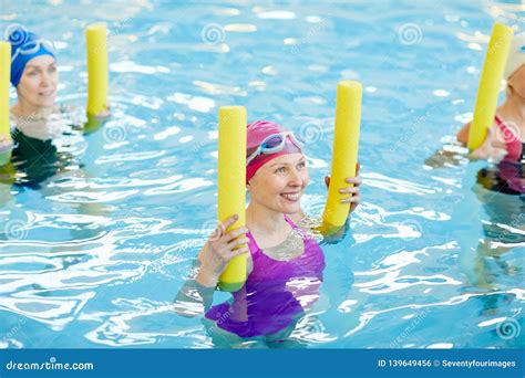
<svg viewBox="0 0 525 378">
<path fill-rule="evenodd" d="M 54 57 L 40 55 L 25 65 L 17 93 L 19 99 L 33 107 L 49 107 L 54 105 L 58 83 L 59 72 Z"/>
</svg>

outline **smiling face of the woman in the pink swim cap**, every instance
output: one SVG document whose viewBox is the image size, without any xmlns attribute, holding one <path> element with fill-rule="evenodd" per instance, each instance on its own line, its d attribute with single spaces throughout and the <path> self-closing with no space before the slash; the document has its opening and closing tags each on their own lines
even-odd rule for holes
<svg viewBox="0 0 525 378">
<path fill-rule="evenodd" d="M 262 167 L 249 180 L 251 201 L 276 212 L 298 212 L 300 200 L 310 177 L 302 154 L 279 156 Z"/>
</svg>

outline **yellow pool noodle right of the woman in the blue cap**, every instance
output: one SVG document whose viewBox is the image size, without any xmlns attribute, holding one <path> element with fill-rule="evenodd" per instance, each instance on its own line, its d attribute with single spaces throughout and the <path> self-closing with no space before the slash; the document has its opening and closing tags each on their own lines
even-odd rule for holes
<svg viewBox="0 0 525 378">
<path fill-rule="evenodd" d="M 87 114 L 100 115 L 107 111 L 107 34 L 104 23 L 85 29 L 87 48 Z"/>
</svg>

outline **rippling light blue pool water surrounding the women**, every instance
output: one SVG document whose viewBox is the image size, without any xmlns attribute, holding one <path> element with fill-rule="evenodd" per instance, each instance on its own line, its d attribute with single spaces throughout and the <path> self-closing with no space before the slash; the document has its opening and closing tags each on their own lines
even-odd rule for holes
<svg viewBox="0 0 525 378">
<path fill-rule="evenodd" d="M 55 43 L 70 105 L 83 30 L 105 21 L 113 114 L 41 189 L 0 183 L 0 347 L 219 346 L 173 311 L 215 219 L 218 107 L 307 139 L 319 216 L 344 78 L 364 90 L 362 203 L 290 345 L 524 345 L 523 200 L 476 183 L 486 162 L 424 164 L 472 116 L 493 22 L 523 29 L 517 1 L 0 2 L 0 30 Z"/>
</svg>

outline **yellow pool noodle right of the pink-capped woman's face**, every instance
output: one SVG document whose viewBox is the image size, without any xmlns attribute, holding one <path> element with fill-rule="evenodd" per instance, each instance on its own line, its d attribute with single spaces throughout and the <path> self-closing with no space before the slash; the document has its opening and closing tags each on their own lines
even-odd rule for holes
<svg viewBox="0 0 525 378">
<path fill-rule="evenodd" d="M 359 126 L 361 123 L 362 86 L 354 81 L 342 81 L 337 87 L 336 128 L 333 136 L 332 166 L 328 198 L 322 214 L 321 230 L 341 228 L 348 218 L 350 203 L 340 200 L 348 195 L 341 195 L 339 189 L 348 187 L 347 177 L 356 176 L 358 162 Z"/>
</svg>

